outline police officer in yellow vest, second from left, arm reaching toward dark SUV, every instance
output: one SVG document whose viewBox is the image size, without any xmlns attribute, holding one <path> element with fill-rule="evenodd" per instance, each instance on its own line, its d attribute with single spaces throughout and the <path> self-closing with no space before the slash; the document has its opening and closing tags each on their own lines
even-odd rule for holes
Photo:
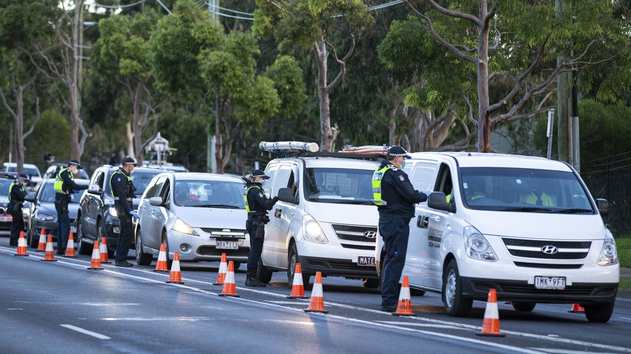
<svg viewBox="0 0 631 354">
<path fill-rule="evenodd" d="M 79 161 L 68 161 L 68 167 L 59 170 L 55 178 L 55 209 L 57 210 L 57 254 L 65 254 L 70 234 L 70 217 L 68 216 L 68 204 L 70 196 L 76 190 L 86 190 L 88 186 L 80 186 L 74 183 L 74 174 L 79 173 L 81 164 Z"/>
</svg>

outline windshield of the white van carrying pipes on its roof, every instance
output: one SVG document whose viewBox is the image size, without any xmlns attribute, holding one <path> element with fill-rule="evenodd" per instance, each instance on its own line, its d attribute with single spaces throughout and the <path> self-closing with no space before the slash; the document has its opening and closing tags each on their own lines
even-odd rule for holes
<svg viewBox="0 0 631 354">
<path fill-rule="evenodd" d="M 370 169 L 307 168 L 305 194 L 318 203 L 373 205 Z"/>
</svg>

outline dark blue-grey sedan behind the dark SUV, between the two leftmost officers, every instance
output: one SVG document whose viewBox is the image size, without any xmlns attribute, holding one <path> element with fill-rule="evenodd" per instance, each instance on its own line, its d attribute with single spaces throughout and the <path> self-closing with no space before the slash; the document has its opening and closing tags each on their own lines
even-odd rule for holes
<svg viewBox="0 0 631 354">
<path fill-rule="evenodd" d="M 78 185 L 88 185 L 88 180 L 76 179 Z M 52 239 L 57 239 L 57 210 L 55 209 L 55 179 L 49 178 L 42 182 L 40 188 L 35 193 L 34 202 L 28 207 L 27 221 L 27 244 L 32 248 L 37 248 L 39 236 L 42 229 L 46 235 L 52 235 Z M 79 201 L 84 191 L 78 191 L 70 197 L 68 204 L 68 216 L 70 217 L 70 232 L 77 232 L 77 212 Z"/>
</svg>

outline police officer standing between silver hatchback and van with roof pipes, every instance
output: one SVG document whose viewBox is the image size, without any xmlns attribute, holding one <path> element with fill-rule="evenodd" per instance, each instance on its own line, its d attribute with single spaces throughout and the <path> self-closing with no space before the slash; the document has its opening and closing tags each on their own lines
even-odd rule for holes
<svg viewBox="0 0 631 354">
<path fill-rule="evenodd" d="M 245 176 L 245 210 L 247 210 L 247 221 L 245 229 L 250 235 L 250 253 L 247 255 L 247 277 L 245 285 L 248 287 L 265 287 L 257 277 L 259 260 L 263 251 L 263 240 L 265 237 L 265 224 L 269 222 L 268 210 L 278 202 L 278 197 L 267 198 L 265 191 L 261 188 L 265 185 L 265 180 L 269 180 L 260 169 L 255 169 L 251 174 Z"/>
</svg>

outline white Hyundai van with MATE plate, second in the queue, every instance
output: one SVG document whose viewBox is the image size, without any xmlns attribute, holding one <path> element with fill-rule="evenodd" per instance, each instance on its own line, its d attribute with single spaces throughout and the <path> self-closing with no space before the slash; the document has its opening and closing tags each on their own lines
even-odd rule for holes
<svg viewBox="0 0 631 354">
<path fill-rule="evenodd" d="M 296 154 L 266 167 L 271 178 L 263 188 L 279 201 L 265 228 L 261 282 L 269 283 L 273 271 L 286 271 L 291 286 L 300 263 L 305 286 L 321 271 L 323 277 L 357 278 L 365 287 L 379 287 L 374 263 L 379 215 L 371 184 L 379 163 L 353 154 L 326 155 L 337 157 Z"/>
</svg>

